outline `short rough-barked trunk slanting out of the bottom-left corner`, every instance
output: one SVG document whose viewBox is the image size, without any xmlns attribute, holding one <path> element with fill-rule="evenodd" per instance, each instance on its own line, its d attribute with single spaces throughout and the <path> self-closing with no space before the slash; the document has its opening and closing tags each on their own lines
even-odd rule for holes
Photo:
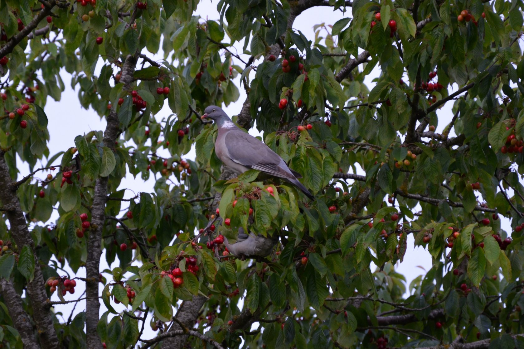
<svg viewBox="0 0 524 349">
<path fill-rule="evenodd" d="M 24 343 L 24 348 L 39 349 L 40 346 L 36 341 L 31 319 L 24 311 L 20 295 L 16 292 L 15 287 L 10 280 L 0 279 L 0 290 L 2 290 L 2 296 L 9 311 L 9 316 L 13 320 L 13 325 L 20 334 L 22 343 Z"/>
</svg>

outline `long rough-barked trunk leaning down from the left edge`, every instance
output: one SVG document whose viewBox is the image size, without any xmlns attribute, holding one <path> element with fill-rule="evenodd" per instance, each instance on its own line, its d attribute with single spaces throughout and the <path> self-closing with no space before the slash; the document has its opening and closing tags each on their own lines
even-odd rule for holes
<svg viewBox="0 0 524 349">
<path fill-rule="evenodd" d="M 13 239 L 19 249 L 23 246 L 31 247 L 32 254 L 36 257 L 35 243 L 31 233 L 27 229 L 27 222 L 24 212 L 20 207 L 20 201 L 16 195 L 17 186 L 9 175 L 9 169 L 4 157 L 5 152 L 0 151 L 0 200 L 4 208 L 9 208 L 5 212 Z M 38 331 L 40 345 L 44 349 L 56 349 L 59 347 L 58 337 L 54 331 L 51 312 L 45 307 L 47 294 L 40 269 L 40 263 L 35 261 L 35 275 L 32 282 L 26 285 L 27 295 L 33 309 L 33 319 Z"/>
</svg>

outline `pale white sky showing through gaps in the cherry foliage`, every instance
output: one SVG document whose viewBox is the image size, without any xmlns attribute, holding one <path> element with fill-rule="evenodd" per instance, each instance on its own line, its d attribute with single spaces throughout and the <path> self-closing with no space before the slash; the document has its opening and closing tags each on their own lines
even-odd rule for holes
<svg viewBox="0 0 524 349">
<path fill-rule="evenodd" d="M 351 16 L 351 9 L 348 9 L 349 11 L 345 14 L 345 16 Z M 209 19 L 219 19 L 220 16 L 216 11 L 216 2 L 211 4 L 209 0 L 204 0 L 201 2 L 196 10 L 196 14 L 200 15 L 203 18 L 209 18 Z M 322 22 L 326 25 L 332 25 L 337 20 L 341 19 L 344 15 L 340 11 L 333 12 L 332 8 L 330 7 L 314 7 L 312 9 L 306 10 L 303 14 L 301 14 L 294 22 L 293 28 L 300 30 L 304 33 L 304 35 L 308 38 L 314 38 L 314 31 L 313 31 L 313 25 L 315 24 L 321 24 Z M 324 36 L 325 32 L 321 33 L 321 36 Z M 227 40 L 227 37 L 226 39 Z M 242 52 L 242 43 L 236 44 L 238 52 Z M 151 54 L 148 54 L 149 57 L 152 57 L 154 60 L 161 60 L 161 55 L 157 55 L 157 57 L 154 57 Z M 247 60 L 248 56 L 243 57 L 244 60 Z M 258 64 L 260 61 L 255 62 L 254 64 Z M 241 62 L 235 62 L 236 64 L 242 65 Z M 362 70 L 362 67 L 359 67 L 359 69 Z M 374 83 L 372 83 L 372 80 L 379 75 L 380 71 L 376 68 L 369 76 L 366 77 L 365 83 L 368 85 L 368 88 L 371 89 Z M 62 71 L 62 78 L 66 86 L 66 90 L 62 93 L 62 98 L 60 102 L 56 102 L 51 98 L 48 98 L 47 105 L 45 107 L 46 114 L 49 118 L 49 133 L 50 133 L 50 141 L 48 143 L 48 147 L 50 150 L 50 154 L 56 154 L 59 151 L 63 151 L 68 149 L 69 147 L 74 147 L 74 138 L 78 136 L 79 134 L 84 134 L 89 132 L 90 130 L 104 130 L 105 129 L 105 120 L 100 120 L 100 117 L 94 112 L 92 109 L 85 110 L 80 107 L 80 104 L 78 102 L 78 89 L 77 91 L 72 91 L 70 88 L 70 80 L 71 76 L 65 72 Z M 404 79 L 407 81 L 407 79 Z M 239 86 L 238 82 L 238 76 L 237 76 L 237 86 Z M 456 91 L 457 86 L 453 86 L 453 91 Z M 224 108 L 228 115 L 233 116 L 237 115 L 242 107 L 242 103 L 245 100 L 245 92 L 243 88 L 239 88 L 239 91 L 241 93 L 241 96 L 238 99 L 238 102 L 231 104 L 230 106 Z M 451 93 L 451 90 L 450 90 Z M 452 118 L 452 112 L 451 112 L 451 106 L 452 103 L 448 103 L 444 108 L 438 111 L 439 115 L 439 126 L 437 128 L 437 132 L 442 131 L 442 129 L 451 121 Z M 167 103 L 165 107 L 156 115 L 157 120 L 161 120 L 162 118 L 166 118 L 168 115 L 171 114 L 171 111 L 167 107 Z M 254 135 L 258 135 L 257 131 L 253 128 L 250 130 L 250 133 Z M 159 150 L 159 152 L 161 152 Z M 194 148 L 193 150 L 188 154 L 189 158 L 194 158 Z M 46 161 L 44 161 L 46 163 Z M 28 173 L 27 168 L 21 168 L 21 174 L 20 176 L 23 176 Z M 362 171 L 361 174 L 363 173 Z M 43 177 L 43 176 L 40 176 Z M 351 183 L 351 181 L 348 181 L 348 183 Z M 154 187 L 154 178 L 151 176 L 148 181 L 144 182 L 142 179 L 140 179 L 140 176 L 137 176 L 137 179 L 134 179 L 133 176 L 128 175 L 123 181 L 119 189 L 121 188 L 130 188 L 132 191 L 126 192 L 126 197 L 133 196 L 134 193 L 138 192 L 152 192 Z M 123 212 L 126 212 L 126 205 L 123 204 Z M 57 214 L 56 211 L 53 213 L 53 216 L 51 218 L 51 221 L 56 220 Z M 506 231 L 509 231 L 509 220 L 503 219 L 503 228 Z M 401 264 L 397 264 L 396 270 L 400 274 L 405 275 L 407 278 L 407 285 L 409 286 L 409 283 L 416 278 L 417 276 L 421 274 L 425 274 L 422 269 L 425 269 L 426 271 L 431 268 L 431 256 L 428 251 L 425 251 L 419 247 L 416 249 L 412 249 L 411 246 L 413 246 L 413 237 L 412 234 L 409 235 L 408 238 L 408 250 L 405 255 L 405 260 Z M 105 268 L 111 268 L 115 267 L 118 264 L 113 263 L 112 266 L 108 266 L 105 262 L 105 255 L 102 255 L 101 258 L 101 266 L 100 270 L 102 271 Z M 67 270 L 67 268 L 66 268 Z M 72 272 L 69 270 L 69 272 L 72 275 Z M 80 268 L 78 274 L 76 276 L 79 277 L 85 277 L 85 269 Z M 110 278 L 110 276 L 105 275 L 106 277 Z M 77 287 L 75 289 L 74 296 L 67 295 L 65 296 L 66 299 L 74 299 L 78 298 L 84 291 L 84 283 L 79 280 L 77 283 Z M 100 286 L 100 291 L 102 291 L 103 287 Z M 58 296 L 54 294 L 52 296 L 52 300 L 59 300 Z M 115 309 L 117 311 L 123 310 L 122 305 L 115 306 Z M 69 317 L 69 314 L 72 309 L 72 305 L 61 305 L 57 306 L 56 311 L 60 311 L 63 313 L 64 321 L 67 320 Z M 78 313 L 80 311 L 83 311 L 85 309 L 85 302 L 82 301 L 79 303 L 79 305 L 74 310 L 74 313 Z M 103 303 L 101 303 L 101 309 L 100 313 L 106 311 L 105 306 Z M 151 317 L 148 317 L 148 322 Z M 144 332 L 143 337 L 145 339 L 150 339 L 155 336 L 155 332 L 153 332 L 149 325 L 147 324 L 146 330 Z"/>
</svg>

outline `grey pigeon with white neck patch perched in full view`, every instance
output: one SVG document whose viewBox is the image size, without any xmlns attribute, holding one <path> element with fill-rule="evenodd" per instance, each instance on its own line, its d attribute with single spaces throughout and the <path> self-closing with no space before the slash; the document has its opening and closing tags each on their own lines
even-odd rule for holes
<svg viewBox="0 0 524 349">
<path fill-rule="evenodd" d="M 298 181 L 297 177 L 300 178 L 300 174 L 291 170 L 286 162 L 266 144 L 239 129 L 224 110 L 212 105 L 205 108 L 204 112 L 201 119 L 214 120 L 219 128 L 215 141 L 215 153 L 224 165 L 239 174 L 253 168 L 286 179 L 302 190 L 302 193 L 311 200 L 314 200 L 315 197 Z"/>
</svg>

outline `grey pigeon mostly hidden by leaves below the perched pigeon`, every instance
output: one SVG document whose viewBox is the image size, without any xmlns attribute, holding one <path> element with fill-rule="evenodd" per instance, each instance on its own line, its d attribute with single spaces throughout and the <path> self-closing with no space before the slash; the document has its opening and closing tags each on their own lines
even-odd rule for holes
<svg viewBox="0 0 524 349">
<path fill-rule="evenodd" d="M 278 242 L 278 237 L 264 237 L 263 235 L 254 235 L 251 232 L 247 234 L 244 228 L 238 228 L 238 239 L 231 244 L 227 238 L 224 238 L 224 245 L 231 253 L 236 256 L 245 257 L 265 257 L 271 253 L 273 247 Z"/>
</svg>

